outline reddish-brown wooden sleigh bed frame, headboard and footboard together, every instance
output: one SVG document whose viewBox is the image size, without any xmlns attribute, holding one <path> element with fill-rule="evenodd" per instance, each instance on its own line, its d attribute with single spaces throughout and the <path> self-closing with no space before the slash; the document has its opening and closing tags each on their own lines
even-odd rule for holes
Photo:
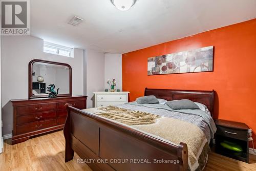
<svg viewBox="0 0 256 171">
<path fill-rule="evenodd" d="M 203 103 L 214 114 L 214 91 L 145 89 L 144 95 L 166 100 L 190 99 Z M 64 127 L 65 161 L 76 152 L 92 170 L 187 170 L 185 143 L 174 145 L 143 134 L 130 127 L 73 108 L 66 104 L 68 116 Z M 153 160 L 174 163 L 149 163 Z M 132 161 L 132 162 L 131 162 Z"/>
</svg>

